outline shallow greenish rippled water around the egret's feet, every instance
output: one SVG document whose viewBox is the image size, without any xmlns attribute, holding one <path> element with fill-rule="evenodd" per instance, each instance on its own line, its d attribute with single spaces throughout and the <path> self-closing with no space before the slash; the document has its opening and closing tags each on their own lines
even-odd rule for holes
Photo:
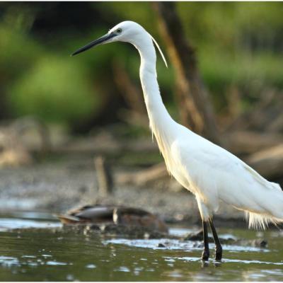
<svg viewBox="0 0 283 283">
<path fill-rule="evenodd" d="M 224 245 L 222 262 L 200 260 L 198 243 L 57 232 L 50 214 L 0 218 L 1 281 L 282 281 L 283 233 L 220 229 L 222 237 L 266 238 L 267 248 Z M 31 227 L 32 229 L 27 229 Z M 42 229 L 46 228 L 46 229 Z M 188 229 L 171 229 L 182 235 Z M 163 243 L 166 248 L 158 248 Z M 214 246 L 211 253 L 213 255 Z"/>
</svg>

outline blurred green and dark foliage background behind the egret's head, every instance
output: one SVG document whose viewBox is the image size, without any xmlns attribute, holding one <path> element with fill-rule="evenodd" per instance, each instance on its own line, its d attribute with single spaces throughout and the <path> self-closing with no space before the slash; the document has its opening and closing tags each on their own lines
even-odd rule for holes
<svg viewBox="0 0 283 283">
<path fill-rule="evenodd" d="M 217 115 L 229 115 L 232 91 L 245 112 L 262 91 L 283 88 L 283 3 L 180 2 L 177 8 Z M 139 87 L 134 47 L 115 43 L 69 54 L 125 20 L 143 25 L 166 53 L 150 2 L 1 2 L 0 119 L 33 115 L 81 133 L 119 121 L 127 105 L 113 62 L 123 62 Z M 178 119 L 170 62 L 166 69 L 158 59 L 158 79 Z"/>
</svg>

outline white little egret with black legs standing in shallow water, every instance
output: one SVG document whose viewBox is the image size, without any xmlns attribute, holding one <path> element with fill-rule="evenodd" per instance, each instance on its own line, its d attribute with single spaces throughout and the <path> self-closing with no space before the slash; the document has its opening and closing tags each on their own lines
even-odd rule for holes
<svg viewBox="0 0 283 283">
<path fill-rule="evenodd" d="M 278 184 L 267 181 L 229 151 L 183 127 L 169 115 L 158 87 L 154 43 L 165 64 L 166 59 L 156 40 L 141 25 L 132 21 L 119 23 L 72 55 L 116 41 L 132 43 L 139 51 L 139 75 L 149 126 L 168 172 L 195 195 L 200 209 L 204 236 L 202 260 L 209 259 L 207 223 L 214 237 L 215 259 L 222 258 L 221 243 L 212 220 L 219 200 L 243 210 L 249 227 L 265 229 L 270 222 L 283 222 L 283 191 Z"/>
</svg>

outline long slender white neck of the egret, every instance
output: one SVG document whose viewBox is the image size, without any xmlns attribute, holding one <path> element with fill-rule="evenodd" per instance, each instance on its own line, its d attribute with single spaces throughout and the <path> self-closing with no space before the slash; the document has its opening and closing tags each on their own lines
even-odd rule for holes
<svg viewBox="0 0 283 283">
<path fill-rule="evenodd" d="M 146 110 L 149 115 L 149 125 L 166 160 L 168 145 L 174 137 L 173 126 L 175 121 L 166 110 L 159 91 L 156 75 L 156 50 L 150 35 L 143 37 L 139 45 L 135 44 L 135 47 L 139 50 L 141 56 L 139 75 L 144 92 Z"/>
</svg>

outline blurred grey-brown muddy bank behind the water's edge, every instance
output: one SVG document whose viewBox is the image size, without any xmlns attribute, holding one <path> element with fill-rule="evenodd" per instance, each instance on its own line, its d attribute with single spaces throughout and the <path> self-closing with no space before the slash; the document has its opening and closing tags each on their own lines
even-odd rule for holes
<svg viewBox="0 0 283 283">
<path fill-rule="evenodd" d="M 127 170 L 112 167 L 114 180 Z M 0 207 L 4 211 L 20 209 L 62 213 L 83 204 L 124 204 L 149 210 L 167 222 L 200 223 L 195 197 L 185 189 L 175 190 L 170 182 L 150 187 L 116 184 L 112 194 L 101 196 L 91 156 L 1 169 L 0 180 Z M 243 212 L 226 204 L 221 204 L 215 221 L 222 226 L 246 226 Z"/>
</svg>

